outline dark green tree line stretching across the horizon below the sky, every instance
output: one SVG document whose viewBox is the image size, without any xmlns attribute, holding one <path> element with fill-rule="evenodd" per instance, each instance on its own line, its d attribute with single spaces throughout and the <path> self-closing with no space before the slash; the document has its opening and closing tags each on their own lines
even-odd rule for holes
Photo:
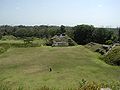
<svg viewBox="0 0 120 90">
<path fill-rule="evenodd" d="M 17 38 L 37 37 L 50 39 L 54 35 L 66 33 L 78 44 L 87 44 L 96 42 L 104 44 L 107 41 L 120 41 L 120 28 L 94 27 L 93 25 L 69 26 L 0 26 L 0 39 L 5 35 L 13 35 Z"/>
</svg>

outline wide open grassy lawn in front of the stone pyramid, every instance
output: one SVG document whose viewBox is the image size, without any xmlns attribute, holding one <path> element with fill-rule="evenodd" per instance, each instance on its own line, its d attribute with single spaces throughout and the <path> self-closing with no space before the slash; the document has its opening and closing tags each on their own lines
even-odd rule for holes
<svg viewBox="0 0 120 90">
<path fill-rule="evenodd" d="M 83 46 L 10 48 L 0 55 L 0 82 L 8 87 L 75 88 L 82 79 L 120 81 L 120 67 L 107 65 Z"/>
</svg>

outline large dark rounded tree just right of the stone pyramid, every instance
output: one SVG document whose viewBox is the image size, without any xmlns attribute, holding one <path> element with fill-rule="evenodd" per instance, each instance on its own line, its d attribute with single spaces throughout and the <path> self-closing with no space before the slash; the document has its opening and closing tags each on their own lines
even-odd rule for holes
<svg viewBox="0 0 120 90">
<path fill-rule="evenodd" d="M 92 41 L 95 28 L 92 25 L 77 25 L 73 27 L 73 30 L 74 40 L 78 44 L 87 44 Z"/>
</svg>

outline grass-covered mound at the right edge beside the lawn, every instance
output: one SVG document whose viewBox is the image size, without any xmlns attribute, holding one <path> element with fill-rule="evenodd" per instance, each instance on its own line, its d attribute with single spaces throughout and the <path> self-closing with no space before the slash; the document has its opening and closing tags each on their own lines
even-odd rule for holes
<svg viewBox="0 0 120 90">
<path fill-rule="evenodd" d="M 110 51 L 103 60 L 108 64 L 120 66 L 120 46 Z"/>
</svg>

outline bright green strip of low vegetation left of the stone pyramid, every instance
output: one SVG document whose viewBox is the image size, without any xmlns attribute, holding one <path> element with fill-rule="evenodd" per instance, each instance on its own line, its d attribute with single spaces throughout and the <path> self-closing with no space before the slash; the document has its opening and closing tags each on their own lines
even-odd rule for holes
<svg viewBox="0 0 120 90">
<path fill-rule="evenodd" d="M 1 40 L 0 47 L 10 48 L 10 47 L 40 47 L 45 46 L 47 39 L 39 39 L 39 38 L 27 38 L 27 40 Z"/>
</svg>

